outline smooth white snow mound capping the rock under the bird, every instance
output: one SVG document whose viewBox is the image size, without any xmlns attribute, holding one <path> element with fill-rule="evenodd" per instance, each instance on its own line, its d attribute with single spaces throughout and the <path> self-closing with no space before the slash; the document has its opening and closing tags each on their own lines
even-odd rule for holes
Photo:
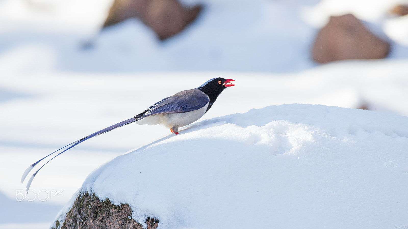
<svg viewBox="0 0 408 229">
<path fill-rule="evenodd" d="M 159 228 L 407 225 L 407 123 L 322 105 L 253 109 L 118 156 L 82 191 Z"/>
</svg>

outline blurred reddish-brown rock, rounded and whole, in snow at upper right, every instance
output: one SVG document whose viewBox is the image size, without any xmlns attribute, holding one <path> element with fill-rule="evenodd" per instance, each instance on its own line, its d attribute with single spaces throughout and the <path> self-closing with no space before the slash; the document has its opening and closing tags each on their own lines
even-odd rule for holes
<svg viewBox="0 0 408 229">
<path fill-rule="evenodd" d="M 381 59 L 390 45 L 370 33 L 352 14 L 330 17 L 318 33 L 312 58 L 319 63 L 342 59 Z"/>
</svg>

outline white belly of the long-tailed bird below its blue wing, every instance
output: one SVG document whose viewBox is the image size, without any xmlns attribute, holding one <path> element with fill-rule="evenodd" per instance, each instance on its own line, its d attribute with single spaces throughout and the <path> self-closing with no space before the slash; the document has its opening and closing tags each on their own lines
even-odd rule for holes
<svg viewBox="0 0 408 229">
<path fill-rule="evenodd" d="M 198 110 L 185 113 L 156 114 L 136 121 L 137 124 L 157 125 L 162 124 L 168 128 L 182 127 L 200 119 L 206 112 L 208 104 Z"/>
</svg>

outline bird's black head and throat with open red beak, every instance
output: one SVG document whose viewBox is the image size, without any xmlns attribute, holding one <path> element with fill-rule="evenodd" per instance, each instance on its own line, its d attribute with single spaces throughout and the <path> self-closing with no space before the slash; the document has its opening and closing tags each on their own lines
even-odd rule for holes
<svg viewBox="0 0 408 229">
<path fill-rule="evenodd" d="M 235 84 L 232 84 L 231 81 L 235 80 L 218 77 L 210 79 L 200 87 L 195 88 L 201 90 L 202 92 L 206 93 L 208 97 L 210 97 L 210 104 L 208 105 L 207 111 L 210 109 L 211 105 L 213 105 L 218 95 L 220 95 L 225 88 L 235 86 Z"/>
</svg>

